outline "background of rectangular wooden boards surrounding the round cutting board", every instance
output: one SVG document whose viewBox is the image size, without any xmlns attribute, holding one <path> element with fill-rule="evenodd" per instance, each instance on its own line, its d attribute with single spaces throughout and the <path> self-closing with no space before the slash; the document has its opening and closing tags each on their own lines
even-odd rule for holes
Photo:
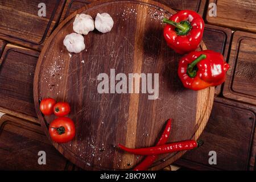
<svg viewBox="0 0 256 182">
<path fill-rule="evenodd" d="M 35 65 L 49 35 L 65 17 L 93 1 L 32 0 L 26 4 L 25 0 L 0 0 L 0 169 L 79 169 L 63 158 L 42 133 L 35 114 L 32 87 Z M 174 10 L 191 9 L 202 15 L 207 23 L 206 46 L 221 52 L 230 64 L 227 81 L 216 89 L 212 114 L 200 137 L 205 145 L 187 152 L 175 164 L 196 170 L 254 170 L 256 2 L 158 2 Z M 39 3 L 46 4 L 46 17 L 38 16 Z M 217 4 L 217 16 L 208 12 L 212 3 Z M 20 148 L 26 158 L 20 158 Z M 42 148 L 48 154 L 46 166 L 35 162 Z M 216 165 L 208 162 L 210 151 L 217 153 Z"/>
</svg>

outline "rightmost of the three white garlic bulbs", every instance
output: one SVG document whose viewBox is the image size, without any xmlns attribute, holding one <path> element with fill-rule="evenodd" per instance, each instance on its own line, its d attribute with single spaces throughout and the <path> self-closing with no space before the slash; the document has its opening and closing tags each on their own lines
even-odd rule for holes
<svg viewBox="0 0 256 182">
<path fill-rule="evenodd" d="M 102 13 L 102 14 L 98 13 L 95 18 L 94 24 L 95 24 L 95 28 L 98 31 L 102 33 L 106 33 L 111 31 L 114 25 L 114 21 L 108 13 Z"/>
</svg>

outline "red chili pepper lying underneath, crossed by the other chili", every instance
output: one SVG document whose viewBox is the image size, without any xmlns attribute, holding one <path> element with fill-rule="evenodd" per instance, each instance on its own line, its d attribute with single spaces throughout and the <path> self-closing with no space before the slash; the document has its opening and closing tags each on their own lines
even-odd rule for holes
<svg viewBox="0 0 256 182">
<path fill-rule="evenodd" d="M 163 134 L 158 140 L 158 143 L 156 143 L 156 146 L 160 146 L 162 144 L 165 144 L 170 136 L 171 131 L 171 122 L 172 119 L 168 119 L 166 123 L 166 127 L 164 128 Z M 151 166 L 152 163 L 154 163 L 155 159 L 157 158 L 157 155 L 148 155 L 146 158 L 136 166 L 133 171 L 145 171 L 148 167 Z"/>
</svg>

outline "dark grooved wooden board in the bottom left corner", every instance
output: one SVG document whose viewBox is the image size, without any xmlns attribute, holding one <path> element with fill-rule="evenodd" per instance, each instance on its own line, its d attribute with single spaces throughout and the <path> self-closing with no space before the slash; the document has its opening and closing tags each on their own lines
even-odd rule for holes
<svg viewBox="0 0 256 182">
<path fill-rule="evenodd" d="M 73 170 L 42 133 L 41 127 L 29 121 L 3 115 L 0 119 L 1 170 Z M 38 164 L 38 152 L 46 152 L 46 165 Z"/>
</svg>

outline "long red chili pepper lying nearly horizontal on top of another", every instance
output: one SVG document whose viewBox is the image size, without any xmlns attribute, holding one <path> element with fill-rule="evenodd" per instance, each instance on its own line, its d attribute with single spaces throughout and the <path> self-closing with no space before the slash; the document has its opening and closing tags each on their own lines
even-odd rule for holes
<svg viewBox="0 0 256 182">
<path fill-rule="evenodd" d="M 176 142 L 176 143 L 168 143 L 163 144 L 161 146 L 155 146 L 155 147 L 147 147 L 147 148 L 127 148 L 125 146 L 122 146 L 121 144 L 118 144 L 118 147 L 120 147 L 122 150 L 129 152 L 131 154 L 137 154 L 137 155 L 158 155 L 158 154 L 166 154 L 170 152 L 176 152 L 176 151 L 183 151 L 183 150 L 191 150 L 192 148 L 199 147 L 203 144 L 203 141 L 199 140 L 196 142 L 196 140 L 187 140 L 183 142 Z"/>
</svg>

